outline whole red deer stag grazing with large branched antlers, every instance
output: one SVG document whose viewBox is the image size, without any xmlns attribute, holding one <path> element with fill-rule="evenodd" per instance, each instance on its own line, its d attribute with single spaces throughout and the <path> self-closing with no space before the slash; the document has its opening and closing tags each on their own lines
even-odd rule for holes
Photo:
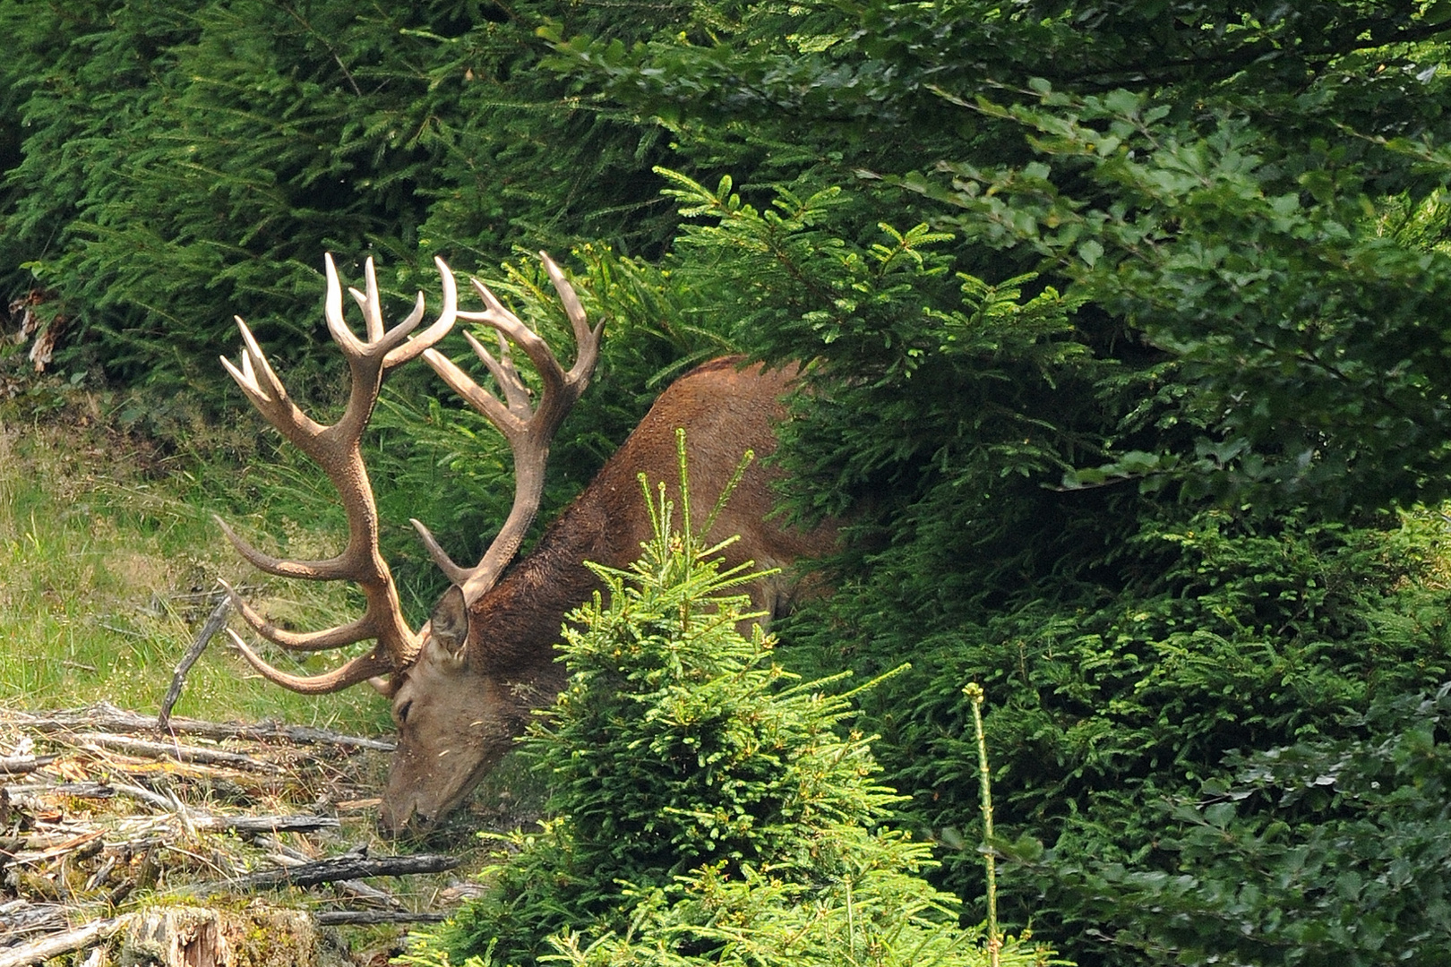
<svg viewBox="0 0 1451 967">
<path fill-rule="evenodd" d="M 273 625 L 235 592 L 232 602 L 263 638 L 292 651 L 319 651 L 374 641 L 371 651 L 319 676 L 292 676 L 267 664 L 235 634 L 234 644 L 267 678 L 303 693 L 326 693 L 371 680 L 392 697 L 398 751 L 389 770 L 380 821 L 390 831 L 428 826 L 457 806 L 503 757 L 524 731 L 533 709 L 553 702 L 564 684 L 554 661 L 564 615 L 599 587 L 585 561 L 625 567 L 650 538 L 650 519 L 640 493 L 640 473 L 651 481 L 676 474 L 676 428 L 685 428 L 692 502 L 714 506 L 734 474 L 741 454 L 766 455 L 775 448 L 773 420 L 784 416 L 781 397 L 794 371 L 741 368 L 737 360 L 715 360 L 676 380 L 654 403 L 595 480 L 540 538 L 535 549 L 509 567 L 538 510 L 550 439 L 589 383 L 599 355 L 601 329 L 585 312 L 560 270 L 544 258 L 577 344 L 575 365 L 566 371 L 531 329 L 508 312 L 480 283 L 483 312 L 460 312 L 453 275 L 438 261 L 444 307 L 428 329 L 409 339 L 424 316 L 424 297 L 412 315 L 392 329 L 383 325 L 371 260 L 367 291 L 350 290 L 363 309 L 367 338 L 358 339 L 342 319 L 342 293 L 332 260 L 326 260 L 328 329 L 348 361 L 351 389 L 347 409 L 331 426 L 315 423 L 289 399 L 247 325 L 241 368 L 223 360 L 247 397 L 283 436 L 308 454 L 332 480 L 348 518 L 347 547 L 325 561 L 293 561 L 257 551 L 225 522 L 237 549 L 260 570 L 283 577 L 350 580 L 363 587 L 360 619 L 311 634 Z M 454 319 L 480 322 L 499 336 L 498 357 L 467 332 L 464 336 L 502 391 L 502 400 L 477 386 L 463 370 L 431 349 Z M 543 384 L 537 403 L 519 378 L 509 342 L 534 364 Z M 414 520 L 434 560 L 453 581 L 429 622 L 414 632 L 399 607 L 387 563 L 377 548 L 379 519 L 371 484 L 363 465 L 360 439 L 377 402 L 383 377 L 424 355 L 429 365 L 508 439 L 515 461 L 515 502 L 499 535 L 476 567 L 454 564 L 424 525 Z M 789 565 L 817 557 L 836 541 L 829 526 L 811 532 L 770 523 L 770 473 L 752 465 L 737 486 L 715 534 L 739 534 L 724 552 L 728 565 L 755 561 L 760 568 Z M 781 578 L 763 578 L 750 589 L 753 602 L 775 612 L 789 599 Z M 385 680 L 380 676 L 389 676 Z"/>
</svg>

